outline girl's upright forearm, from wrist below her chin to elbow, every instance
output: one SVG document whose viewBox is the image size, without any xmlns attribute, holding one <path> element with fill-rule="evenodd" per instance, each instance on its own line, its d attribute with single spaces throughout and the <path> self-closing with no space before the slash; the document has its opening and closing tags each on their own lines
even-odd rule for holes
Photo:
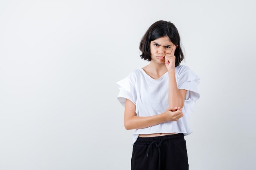
<svg viewBox="0 0 256 170">
<path fill-rule="evenodd" d="M 169 71 L 168 104 L 170 108 L 182 107 L 183 99 L 177 88 L 175 70 Z"/>
</svg>

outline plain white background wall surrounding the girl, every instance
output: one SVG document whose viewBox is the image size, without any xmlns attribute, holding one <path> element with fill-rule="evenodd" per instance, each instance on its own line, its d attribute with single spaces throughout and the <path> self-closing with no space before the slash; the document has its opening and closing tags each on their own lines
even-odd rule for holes
<svg viewBox="0 0 256 170">
<path fill-rule="evenodd" d="M 185 137 L 190 170 L 252 170 L 255 1 L 1 0 L 0 170 L 130 170 L 115 82 L 149 62 L 139 42 L 177 27 L 201 78 Z"/>
</svg>

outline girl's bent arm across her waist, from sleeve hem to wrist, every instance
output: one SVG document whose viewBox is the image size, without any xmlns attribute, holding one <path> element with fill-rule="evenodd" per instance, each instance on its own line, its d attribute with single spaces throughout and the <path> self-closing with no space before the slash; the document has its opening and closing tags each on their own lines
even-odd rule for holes
<svg viewBox="0 0 256 170">
<path fill-rule="evenodd" d="M 124 127 L 126 130 L 146 128 L 167 121 L 164 113 L 146 117 L 136 116 L 135 108 L 135 104 L 126 99 L 124 110 Z"/>
</svg>

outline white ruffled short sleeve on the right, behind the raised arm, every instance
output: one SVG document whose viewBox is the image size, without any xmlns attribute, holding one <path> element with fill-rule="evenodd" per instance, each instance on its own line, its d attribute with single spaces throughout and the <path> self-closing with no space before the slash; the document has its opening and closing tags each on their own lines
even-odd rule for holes
<svg viewBox="0 0 256 170">
<path fill-rule="evenodd" d="M 196 100 L 200 98 L 198 91 L 198 84 L 200 83 L 200 77 L 195 74 L 188 66 L 184 66 L 181 69 L 177 77 L 177 88 L 187 90 L 185 101 L 184 101 L 184 110 L 188 117 L 192 116 L 193 107 Z"/>
</svg>

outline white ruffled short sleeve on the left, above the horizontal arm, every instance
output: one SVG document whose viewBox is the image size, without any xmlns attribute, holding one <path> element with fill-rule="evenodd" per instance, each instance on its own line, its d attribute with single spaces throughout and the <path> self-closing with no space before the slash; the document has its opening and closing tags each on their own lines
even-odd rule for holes
<svg viewBox="0 0 256 170">
<path fill-rule="evenodd" d="M 129 99 L 136 105 L 136 89 L 129 77 L 125 77 L 120 81 L 116 82 L 119 88 L 117 95 L 118 101 L 125 107 L 126 99 Z"/>
</svg>

